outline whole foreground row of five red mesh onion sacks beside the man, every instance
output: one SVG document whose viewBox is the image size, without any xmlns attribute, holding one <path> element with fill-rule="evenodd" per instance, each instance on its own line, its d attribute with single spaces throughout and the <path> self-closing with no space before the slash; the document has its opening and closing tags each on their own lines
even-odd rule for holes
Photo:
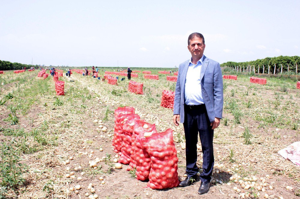
<svg viewBox="0 0 300 199">
<path fill-rule="evenodd" d="M 146 123 L 134 114 L 132 107 L 115 110 L 113 146 L 121 155 L 119 163 L 136 168 L 138 180 L 148 180 L 151 189 L 166 189 L 179 185 L 177 151 L 173 131 L 157 133 L 155 124 Z"/>
</svg>

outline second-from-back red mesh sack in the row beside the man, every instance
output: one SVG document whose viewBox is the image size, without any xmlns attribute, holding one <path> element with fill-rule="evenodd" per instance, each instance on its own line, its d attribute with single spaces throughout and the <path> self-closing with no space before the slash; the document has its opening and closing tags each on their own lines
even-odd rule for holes
<svg viewBox="0 0 300 199">
<path fill-rule="evenodd" d="M 114 150 L 121 152 L 122 149 L 122 134 L 123 134 L 123 124 L 125 121 L 130 120 L 130 119 L 140 119 L 140 116 L 137 114 L 119 114 L 119 120 L 118 123 L 116 123 L 117 126 L 117 131 L 114 134 L 113 137 L 113 146 Z M 120 154 L 121 155 L 121 154 Z"/>
</svg>

